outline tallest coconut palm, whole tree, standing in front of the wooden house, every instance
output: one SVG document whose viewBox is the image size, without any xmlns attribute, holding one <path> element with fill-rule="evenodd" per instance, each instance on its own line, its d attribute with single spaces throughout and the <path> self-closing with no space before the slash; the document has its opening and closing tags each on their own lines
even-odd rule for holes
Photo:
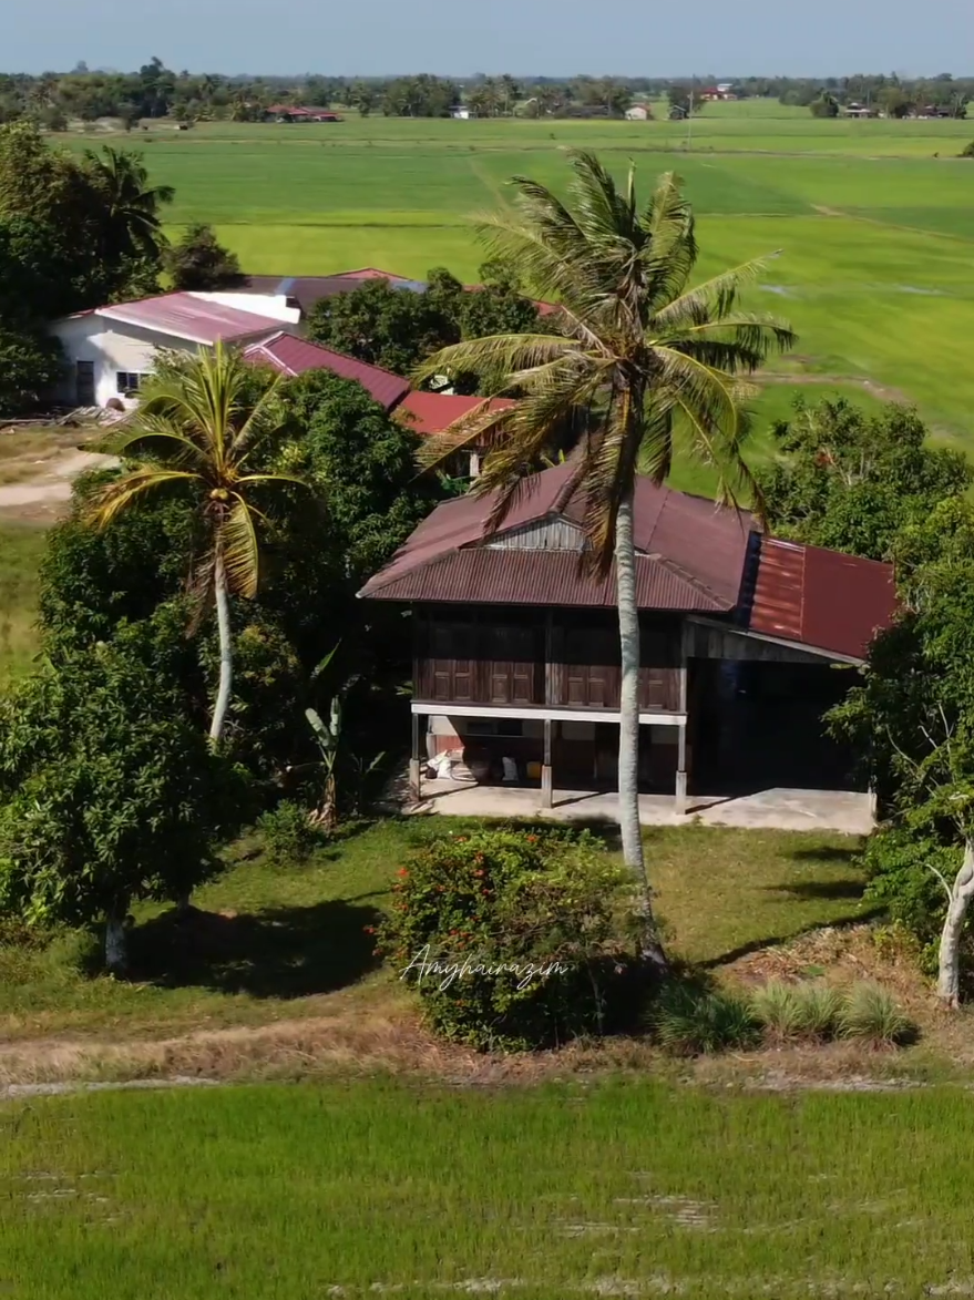
<svg viewBox="0 0 974 1300">
<path fill-rule="evenodd" d="M 739 307 L 754 261 L 691 287 L 697 261 L 693 213 L 680 182 L 665 176 L 644 208 L 633 170 L 616 186 L 590 153 L 572 152 L 571 198 L 516 177 L 516 211 L 482 224 L 492 254 L 519 272 L 540 299 L 560 304 L 560 334 L 501 334 L 447 347 L 419 377 L 473 370 L 502 374 L 492 396 L 511 393 L 514 410 L 484 407 L 463 433 L 441 443 L 492 447 L 477 491 L 497 490 L 498 525 L 525 476 L 566 428 L 583 428 L 575 481 L 585 504 L 584 563 L 615 564 L 622 697 L 619 822 L 627 863 L 645 898 L 645 956 L 663 962 L 655 936 L 638 820 L 638 667 L 633 493 L 637 472 L 662 484 L 675 441 L 720 473 L 722 499 L 745 493 L 759 508 L 741 450 L 752 391 L 740 380 L 770 351 L 793 343 L 791 329 Z M 580 419 L 581 416 L 581 419 Z"/>
</svg>

